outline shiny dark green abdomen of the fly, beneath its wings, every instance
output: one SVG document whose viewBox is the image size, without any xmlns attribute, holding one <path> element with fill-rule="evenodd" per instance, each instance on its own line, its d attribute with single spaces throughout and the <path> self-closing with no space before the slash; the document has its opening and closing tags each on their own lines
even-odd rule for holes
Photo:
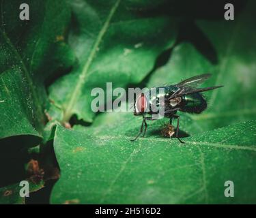
<svg viewBox="0 0 256 218">
<path fill-rule="evenodd" d="M 200 93 L 185 95 L 182 100 L 183 106 L 180 110 L 183 112 L 199 114 L 207 107 L 207 103 Z"/>
</svg>

